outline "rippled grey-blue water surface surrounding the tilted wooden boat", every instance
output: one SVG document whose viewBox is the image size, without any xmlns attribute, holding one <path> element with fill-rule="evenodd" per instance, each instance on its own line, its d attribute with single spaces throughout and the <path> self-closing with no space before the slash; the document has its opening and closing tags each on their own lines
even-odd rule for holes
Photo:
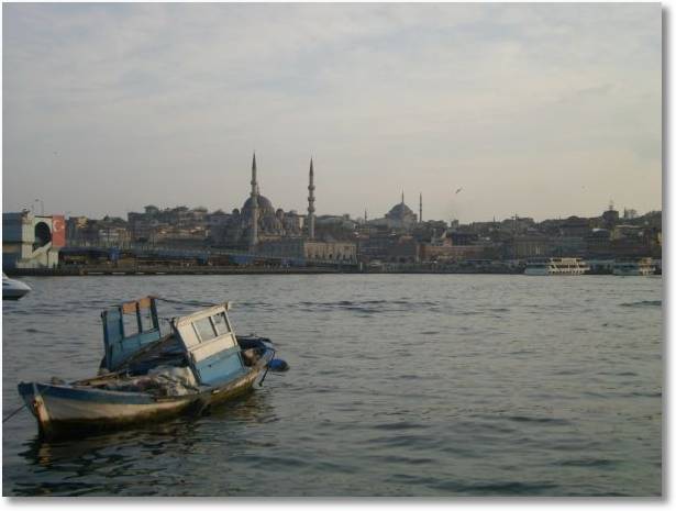
<svg viewBox="0 0 676 511">
<path fill-rule="evenodd" d="M 42 442 L 3 424 L 3 495 L 657 496 L 662 279 L 489 275 L 26 278 L 20 380 L 92 376 L 99 312 L 232 300 L 291 366 L 209 416 Z M 190 308 L 164 306 L 160 315 Z"/>
</svg>

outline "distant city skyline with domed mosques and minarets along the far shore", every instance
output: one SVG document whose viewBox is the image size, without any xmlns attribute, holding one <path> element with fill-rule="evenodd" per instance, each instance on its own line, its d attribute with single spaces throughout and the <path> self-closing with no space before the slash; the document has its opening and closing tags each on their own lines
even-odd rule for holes
<svg viewBox="0 0 676 511">
<path fill-rule="evenodd" d="M 402 193 L 380 218 L 317 215 L 313 176 L 310 162 L 307 213 L 275 208 L 261 192 L 255 155 L 251 192 L 242 208 L 231 212 L 149 204 L 126 219 L 4 213 L 3 267 L 91 264 L 92 257 L 118 264 L 124 251 L 132 262 L 148 254 L 162 262 L 169 257 L 167 249 L 192 251 L 199 254 L 198 264 L 208 265 L 252 264 L 266 257 L 275 264 L 367 267 L 467 262 L 514 266 L 535 257 L 662 258 L 661 211 L 639 214 L 624 209 L 620 214 L 611 204 L 591 218 L 535 222 L 514 215 L 461 224 L 422 221 L 422 197 L 415 214 Z"/>
</svg>

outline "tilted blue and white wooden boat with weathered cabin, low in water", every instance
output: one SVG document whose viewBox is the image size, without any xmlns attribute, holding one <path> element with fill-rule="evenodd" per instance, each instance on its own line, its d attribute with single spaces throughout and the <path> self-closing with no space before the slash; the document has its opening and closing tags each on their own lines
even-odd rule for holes
<svg viewBox="0 0 676 511">
<path fill-rule="evenodd" d="M 43 436 L 80 434 L 200 414 L 252 389 L 273 366 L 273 343 L 236 336 L 230 303 L 174 318 L 163 335 L 156 298 L 101 314 L 104 356 L 99 375 L 66 384 L 21 382 L 19 393 Z"/>
</svg>

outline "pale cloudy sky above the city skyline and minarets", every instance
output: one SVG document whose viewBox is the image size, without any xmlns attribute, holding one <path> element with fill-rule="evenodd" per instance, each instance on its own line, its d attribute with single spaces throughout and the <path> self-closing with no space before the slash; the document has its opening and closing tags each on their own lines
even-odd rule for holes
<svg viewBox="0 0 676 511">
<path fill-rule="evenodd" d="M 2 5 L 3 211 L 662 208 L 661 7 Z M 455 191 L 462 188 L 462 191 Z M 40 209 L 40 205 L 37 205 Z"/>
</svg>

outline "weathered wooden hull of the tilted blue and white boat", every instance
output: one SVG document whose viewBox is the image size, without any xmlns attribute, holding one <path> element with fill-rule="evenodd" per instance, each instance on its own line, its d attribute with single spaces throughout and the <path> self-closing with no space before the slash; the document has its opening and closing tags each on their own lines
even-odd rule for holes
<svg viewBox="0 0 676 511">
<path fill-rule="evenodd" d="M 267 354 L 266 354 L 267 355 Z M 157 398 L 146 392 L 121 392 L 71 385 L 20 384 L 19 393 L 37 420 L 42 436 L 69 436 L 199 414 L 211 406 L 250 391 L 273 354 L 242 376 L 221 386 L 186 396 Z"/>
</svg>

